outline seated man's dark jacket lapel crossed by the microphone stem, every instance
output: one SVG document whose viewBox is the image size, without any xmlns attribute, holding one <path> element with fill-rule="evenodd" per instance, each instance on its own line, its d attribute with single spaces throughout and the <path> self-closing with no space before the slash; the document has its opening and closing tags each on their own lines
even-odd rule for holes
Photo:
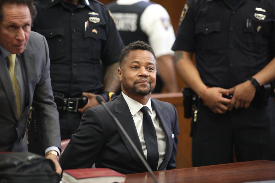
<svg viewBox="0 0 275 183">
<path fill-rule="evenodd" d="M 115 102 L 115 114 L 114 115 L 117 117 L 117 119 L 123 126 L 124 130 L 127 132 L 129 137 L 131 138 L 131 140 L 137 147 L 137 150 L 142 154 L 143 158 L 146 160 L 143 150 L 142 150 L 140 139 L 137 134 L 137 130 L 135 127 L 133 117 L 131 115 L 128 105 L 127 105 L 126 101 L 124 100 L 122 94 L 120 94 L 117 97 L 117 99 L 114 100 L 114 102 Z M 120 128 L 118 126 L 117 126 L 117 130 L 118 130 L 119 135 L 121 136 L 121 139 L 123 140 L 125 146 L 129 150 L 131 156 L 135 159 L 135 161 L 140 166 L 144 167 L 146 170 L 146 167 L 140 160 L 139 156 L 137 155 L 137 153 L 135 152 L 135 150 L 133 149 L 133 147 L 131 146 L 131 144 L 129 143 L 129 141 L 127 140 L 127 138 L 125 137 L 125 135 L 123 134 L 123 132 L 120 130 Z"/>
</svg>

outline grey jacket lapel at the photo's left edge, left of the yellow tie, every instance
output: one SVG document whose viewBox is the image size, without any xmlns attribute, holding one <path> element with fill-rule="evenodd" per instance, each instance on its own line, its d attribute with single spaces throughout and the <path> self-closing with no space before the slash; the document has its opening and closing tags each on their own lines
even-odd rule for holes
<svg viewBox="0 0 275 183">
<path fill-rule="evenodd" d="M 11 104 L 12 112 L 15 118 L 17 118 L 15 93 L 13 90 L 12 81 L 11 81 L 11 77 L 9 76 L 9 70 L 7 68 L 5 58 L 3 57 L 1 52 L 0 52 L 0 65 L 1 65 L 0 80 L 5 90 L 5 93 L 7 95 L 7 98 L 9 100 L 9 103 Z"/>
</svg>

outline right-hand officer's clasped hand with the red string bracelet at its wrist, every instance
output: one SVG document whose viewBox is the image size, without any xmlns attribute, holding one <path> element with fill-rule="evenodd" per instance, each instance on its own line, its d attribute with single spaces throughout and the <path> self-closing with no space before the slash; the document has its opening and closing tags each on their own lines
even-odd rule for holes
<svg viewBox="0 0 275 183">
<path fill-rule="evenodd" d="M 230 99 L 222 97 L 223 94 L 229 95 L 228 90 L 219 87 L 206 89 L 204 92 L 205 105 L 215 113 L 223 114 L 227 112 Z"/>
</svg>

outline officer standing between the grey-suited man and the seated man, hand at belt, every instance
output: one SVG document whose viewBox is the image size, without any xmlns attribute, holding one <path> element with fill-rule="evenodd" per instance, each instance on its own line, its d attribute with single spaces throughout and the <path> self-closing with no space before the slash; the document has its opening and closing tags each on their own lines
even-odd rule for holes
<svg viewBox="0 0 275 183">
<path fill-rule="evenodd" d="M 99 105 L 95 96 L 108 101 L 119 88 L 117 69 L 124 45 L 108 9 L 96 0 L 37 0 L 35 5 L 33 30 L 49 45 L 61 139 L 68 139 L 81 114 Z"/>
</svg>

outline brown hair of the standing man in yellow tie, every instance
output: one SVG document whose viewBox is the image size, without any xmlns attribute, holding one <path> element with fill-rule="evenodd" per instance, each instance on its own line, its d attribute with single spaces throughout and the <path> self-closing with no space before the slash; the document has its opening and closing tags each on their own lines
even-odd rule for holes
<svg viewBox="0 0 275 183">
<path fill-rule="evenodd" d="M 33 0 L 0 0 L 0 22 L 3 20 L 3 17 L 4 17 L 4 13 L 3 13 L 3 9 L 2 9 L 4 4 L 15 4 L 15 5 L 28 6 L 30 13 L 31 13 L 31 17 L 32 17 L 32 23 L 34 22 L 37 11 L 36 11 L 36 7 L 34 5 Z"/>
</svg>

